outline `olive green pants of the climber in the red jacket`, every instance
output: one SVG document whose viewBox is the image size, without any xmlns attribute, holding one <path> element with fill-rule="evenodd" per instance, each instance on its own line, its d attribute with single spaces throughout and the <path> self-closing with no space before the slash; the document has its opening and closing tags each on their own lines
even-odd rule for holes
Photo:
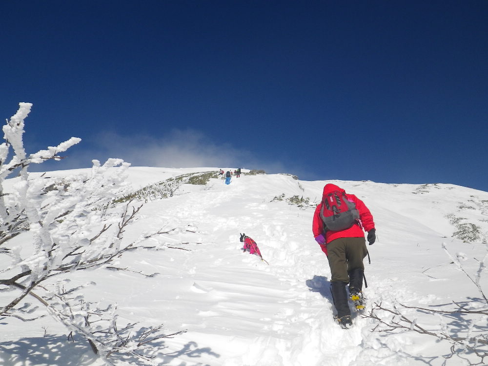
<svg viewBox="0 0 488 366">
<path fill-rule="evenodd" d="M 365 269 L 366 240 L 362 238 L 339 238 L 327 244 L 327 260 L 332 278 L 330 281 L 349 283 L 348 271 L 356 268 Z"/>
</svg>

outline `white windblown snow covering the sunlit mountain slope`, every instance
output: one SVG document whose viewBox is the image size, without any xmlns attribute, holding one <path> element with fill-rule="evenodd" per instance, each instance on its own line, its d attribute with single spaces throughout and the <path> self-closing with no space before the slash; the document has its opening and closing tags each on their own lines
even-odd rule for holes
<svg viewBox="0 0 488 366">
<path fill-rule="evenodd" d="M 217 169 L 131 167 L 129 180 L 138 189 L 211 170 Z M 229 185 L 221 179 L 185 184 L 174 197 L 144 203 L 125 240 L 177 228 L 147 240 L 148 247 L 163 242 L 175 248 L 127 252 L 112 264 L 132 272 L 104 268 L 75 273 L 73 279 L 96 282 L 85 296 L 117 303 L 120 321 L 164 324 L 168 333 L 187 330 L 164 340 L 154 365 L 462 365 L 458 357 L 443 357 L 449 343 L 413 331 L 372 331 L 377 321 L 359 312 L 352 313 L 351 329 L 334 323 L 329 267 L 311 232 L 325 183 L 355 194 L 374 217 L 378 239 L 368 246 L 371 264 L 365 260 L 365 313 L 374 303 L 446 309 L 455 307 L 453 301 L 479 303 L 478 289 L 442 244 L 476 275 L 486 253 L 487 192 L 451 184 L 307 182 L 285 174 L 243 175 Z M 273 200 L 282 194 L 283 201 Z M 292 196 L 311 204 L 289 204 L 286 198 Z M 452 218 L 477 225 L 478 243 L 453 238 L 459 228 Z M 269 265 L 240 250 L 243 232 L 257 242 Z M 28 233 L 15 238 L 28 239 Z M 486 278 L 485 273 L 485 292 Z M 439 316 L 403 311 L 429 330 L 441 329 Z M 455 333 L 466 330 L 459 316 L 447 319 Z M 487 333 L 486 318 L 481 319 L 474 333 Z M 2 366 L 102 365 L 85 340 L 74 335 L 74 342 L 68 341 L 66 330 L 48 316 L 29 323 L 3 319 L 1 328 Z"/>
</svg>

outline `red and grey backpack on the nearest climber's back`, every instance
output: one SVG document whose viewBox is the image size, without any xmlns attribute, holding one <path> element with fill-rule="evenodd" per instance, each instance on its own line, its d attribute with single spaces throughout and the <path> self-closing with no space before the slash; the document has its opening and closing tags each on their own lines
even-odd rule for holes
<svg viewBox="0 0 488 366">
<path fill-rule="evenodd" d="M 346 230 L 359 219 L 356 203 L 347 200 L 346 193 L 334 191 L 322 201 L 320 217 L 325 229 L 331 231 Z"/>
</svg>

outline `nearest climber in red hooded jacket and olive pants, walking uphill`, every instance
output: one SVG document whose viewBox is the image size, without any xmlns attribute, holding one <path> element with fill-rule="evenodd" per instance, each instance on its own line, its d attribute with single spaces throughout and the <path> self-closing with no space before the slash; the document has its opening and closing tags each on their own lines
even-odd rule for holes
<svg viewBox="0 0 488 366">
<path fill-rule="evenodd" d="M 313 236 L 327 255 L 332 277 L 330 291 L 337 310 L 337 320 L 343 328 L 352 325 L 349 299 L 356 309 L 364 308 L 362 294 L 364 264 L 367 248 L 364 230 L 368 232 L 369 245 L 376 240 L 373 216 L 363 201 L 335 184 L 325 184 L 322 202 L 313 216 Z"/>
</svg>

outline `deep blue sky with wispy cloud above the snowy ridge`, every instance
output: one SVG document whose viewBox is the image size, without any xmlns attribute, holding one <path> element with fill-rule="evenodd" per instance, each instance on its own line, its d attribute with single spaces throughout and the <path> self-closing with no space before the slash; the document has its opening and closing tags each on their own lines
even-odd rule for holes
<svg viewBox="0 0 488 366">
<path fill-rule="evenodd" d="M 265 169 L 488 191 L 488 1 L 1 1 L 0 112 L 44 169 Z M 38 168 L 39 169 L 39 168 Z"/>
</svg>

